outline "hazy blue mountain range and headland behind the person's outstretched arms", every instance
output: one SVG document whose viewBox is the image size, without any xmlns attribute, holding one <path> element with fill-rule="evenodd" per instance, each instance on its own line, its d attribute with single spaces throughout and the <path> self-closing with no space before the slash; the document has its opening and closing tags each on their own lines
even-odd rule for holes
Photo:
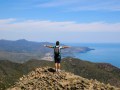
<svg viewBox="0 0 120 90">
<path fill-rule="evenodd" d="M 0 60 L 11 60 L 23 63 L 30 59 L 53 57 L 53 50 L 44 47 L 44 45 L 55 45 L 50 42 L 33 42 L 25 39 L 16 41 L 0 40 Z M 61 44 L 63 45 L 63 44 Z M 88 47 L 71 47 L 62 51 L 62 56 L 74 57 L 75 52 L 87 52 L 92 49 Z"/>
</svg>

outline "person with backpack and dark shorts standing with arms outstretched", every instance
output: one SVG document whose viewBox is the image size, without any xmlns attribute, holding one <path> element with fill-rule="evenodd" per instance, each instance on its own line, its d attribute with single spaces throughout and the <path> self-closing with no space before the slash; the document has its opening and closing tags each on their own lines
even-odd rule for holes
<svg viewBox="0 0 120 90">
<path fill-rule="evenodd" d="M 60 46 L 59 41 L 56 41 L 55 46 L 51 46 L 51 45 L 44 45 L 44 46 L 54 49 L 55 70 L 60 71 L 61 49 L 69 48 L 69 46 Z"/>
</svg>

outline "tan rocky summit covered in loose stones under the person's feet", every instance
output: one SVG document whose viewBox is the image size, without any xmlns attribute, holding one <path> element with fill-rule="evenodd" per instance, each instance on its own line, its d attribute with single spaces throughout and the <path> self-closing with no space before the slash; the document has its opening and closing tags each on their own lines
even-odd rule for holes
<svg viewBox="0 0 120 90">
<path fill-rule="evenodd" d="M 7 90 L 120 90 L 110 84 L 74 75 L 54 68 L 36 68 L 28 75 L 23 75 L 14 86 Z"/>
</svg>

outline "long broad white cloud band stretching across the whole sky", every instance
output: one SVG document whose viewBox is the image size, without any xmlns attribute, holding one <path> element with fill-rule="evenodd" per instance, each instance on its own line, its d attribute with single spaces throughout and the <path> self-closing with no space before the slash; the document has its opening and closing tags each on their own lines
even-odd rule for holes
<svg viewBox="0 0 120 90">
<path fill-rule="evenodd" d="M 0 20 L 0 30 L 24 31 L 24 32 L 120 32 L 120 23 L 76 23 L 73 21 L 40 21 L 15 19 Z"/>
</svg>

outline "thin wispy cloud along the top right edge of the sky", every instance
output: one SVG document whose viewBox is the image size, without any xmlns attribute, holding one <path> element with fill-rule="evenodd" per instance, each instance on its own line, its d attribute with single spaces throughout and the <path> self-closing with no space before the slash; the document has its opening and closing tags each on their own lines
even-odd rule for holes
<svg viewBox="0 0 120 90">
<path fill-rule="evenodd" d="M 67 11 L 109 10 L 120 11 L 120 0 L 53 0 L 38 7 L 63 7 Z"/>
</svg>

